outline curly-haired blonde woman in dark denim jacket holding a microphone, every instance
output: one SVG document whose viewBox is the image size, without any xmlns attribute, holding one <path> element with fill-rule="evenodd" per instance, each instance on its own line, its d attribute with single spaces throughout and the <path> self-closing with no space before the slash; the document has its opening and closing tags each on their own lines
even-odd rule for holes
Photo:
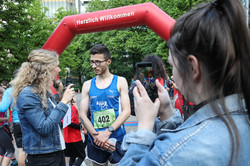
<svg viewBox="0 0 250 166">
<path fill-rule="evenodd" d="M 28 154 L 27 166 L 65 165 L 59 123 L 75 92 L 70 85 L 62 100 L 55 102 L 50 87 L 60 71 L 56 52 L 37 49 L 30 52 L 13 80 L 12 95 L 23 132 L 23 150 Z"/>
</svg>

